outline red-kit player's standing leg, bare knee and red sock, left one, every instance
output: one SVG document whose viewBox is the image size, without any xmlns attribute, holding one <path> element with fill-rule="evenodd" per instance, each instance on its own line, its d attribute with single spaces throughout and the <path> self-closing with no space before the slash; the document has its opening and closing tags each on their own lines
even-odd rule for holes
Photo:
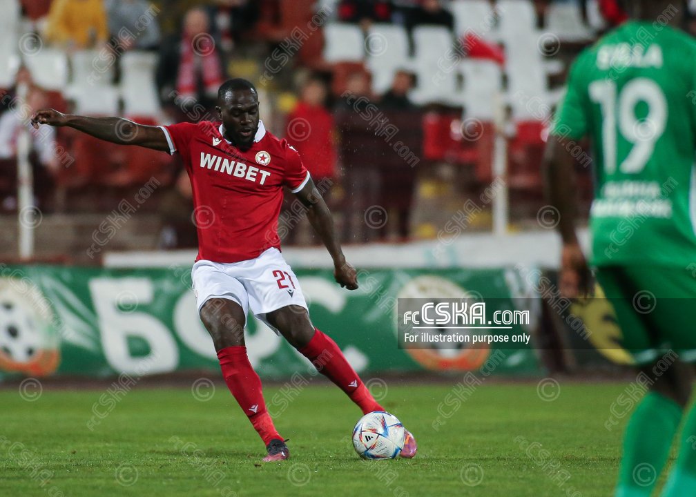
<svg viewBox="0 0 696 497">
<path fill-rule="evenodd" d="M 272 441 L 282 442 L 283 437 L 278 434 L 266 409 L 261 379 L 246 354 L 246 317 L 242 306 L 230 299 L 209 299 L 200 309 L 200 319 L 213 339 L 225 383 L 251 425 L 267 448 Z"/>
</svg>

